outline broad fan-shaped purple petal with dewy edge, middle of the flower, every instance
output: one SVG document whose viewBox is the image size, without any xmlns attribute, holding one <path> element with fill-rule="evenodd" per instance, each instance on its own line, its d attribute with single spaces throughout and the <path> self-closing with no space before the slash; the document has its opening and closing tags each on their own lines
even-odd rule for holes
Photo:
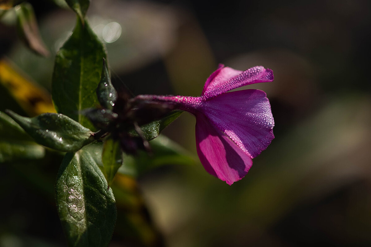
<svg viewBox="0 0 371 247">
<path fill-rule="evenodd" d="M 247 89 L 206 100 L 201 111 L 251 158 L 274 138 L 274 120 L 265 92 Z"/>
</svg>

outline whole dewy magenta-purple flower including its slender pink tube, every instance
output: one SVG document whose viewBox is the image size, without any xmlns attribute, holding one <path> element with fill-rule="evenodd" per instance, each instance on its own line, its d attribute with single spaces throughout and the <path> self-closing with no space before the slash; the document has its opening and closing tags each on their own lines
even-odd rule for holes
<svg viewBox="0 0 371 247">
<path fill-rule="evenodd" d="M 201 163 L 208 173 L 231 185 L 247 174 L 252 158 L 273 140 L 274 120 L 265 92 L 227 91 L 273 79 L 273 71 L 262 66 L 240 71 L 220 64 L 200 97 L 139 95 L 137 99 L 167 102 L 194 114 Z"/>
</svg>

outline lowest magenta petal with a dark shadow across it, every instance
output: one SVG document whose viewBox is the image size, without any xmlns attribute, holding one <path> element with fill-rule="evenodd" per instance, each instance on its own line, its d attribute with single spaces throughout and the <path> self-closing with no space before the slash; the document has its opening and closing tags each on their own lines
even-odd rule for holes
<svg viewBox="0 0 371 247">
<path fill-rule="evenodd" d="M 197 154 L 205 170 L 229 185 L 243 178 L 252 159 L 203 114 L 197 114 L 196 119 Z"/>
</svg>

